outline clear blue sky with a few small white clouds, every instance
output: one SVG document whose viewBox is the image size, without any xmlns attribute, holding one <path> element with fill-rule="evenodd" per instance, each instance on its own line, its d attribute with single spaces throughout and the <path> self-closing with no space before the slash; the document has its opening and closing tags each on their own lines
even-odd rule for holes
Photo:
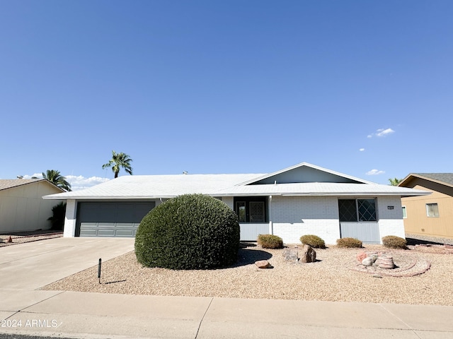
<svg viewBox="0 0 453 339">
<path fill-rule="evenodd" d="M 0 8 L 0 179 L 91 186 L 112 150 L 134 174 L 453 172 L 453 1 Z"/>
</svg>

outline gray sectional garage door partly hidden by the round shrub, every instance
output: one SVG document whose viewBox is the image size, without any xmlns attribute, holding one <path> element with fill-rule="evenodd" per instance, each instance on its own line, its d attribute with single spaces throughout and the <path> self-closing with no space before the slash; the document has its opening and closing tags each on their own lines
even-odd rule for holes
<svg viewBox="0 0 453 339">
<path fill-rule="evenodd" d="M 154 201 L 78 203 L 76 236 L 135 237 L 140 221 L 154 206 Z"/>
</svg>

